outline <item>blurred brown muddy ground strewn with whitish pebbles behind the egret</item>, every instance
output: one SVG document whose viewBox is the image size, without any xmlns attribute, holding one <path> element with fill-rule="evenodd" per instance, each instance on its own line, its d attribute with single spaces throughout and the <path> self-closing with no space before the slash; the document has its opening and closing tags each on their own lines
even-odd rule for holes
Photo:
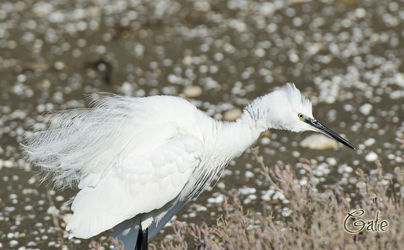
<svg viewBox="0 0 404 250">
<path fill-rule="evenodd" d="M 290 163 L 301 185 L 310 160 L 319 189 L 339 184 L 354 203 L 357 168 L 369 173 L 380 160 L 393 174 L 402 165 L 403 36 L 401 0 L 1 1 L 0 247 L 60 248 L 63 237 L 88 249 L 112 235 L 68 240 L 63 204 L 77 190 L 39 185 L 18 148 L 24 131 L 45 126 L 46 111 L 88 107 L 85 95 L 102 91 L 178 95 L 232 121 L 255 97 L 294 82 L 314 117 L 357 151 L 311 149 L 300 143 L 310 132 L 272 130 L 257 141 L 259 152 L 269 167 Z M 288 201 L 260 172 L 248 150 L 174 219 L 212 225 L 224 196 L 238 192 L 245 211 L 268 205 L 285 220 Z M 171 230 L 150 243 L 172 238 Z"/>
</svg>

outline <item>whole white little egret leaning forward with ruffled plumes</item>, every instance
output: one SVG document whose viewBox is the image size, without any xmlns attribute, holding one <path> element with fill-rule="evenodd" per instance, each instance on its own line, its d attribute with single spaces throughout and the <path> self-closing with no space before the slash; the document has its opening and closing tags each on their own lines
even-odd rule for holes
<svg viewBox="0 0 404 250">
<path fill-rule="evenodd" d="M 70 236 L 114 229 L 125 249 L 153 237 L 268 129 L 318 131 L 354 148 L 312 115 L 294 84 L 256 98 L 235 122 L 217 121 L 175 96 L 101 93 L 90 109 L 56 112 L 21 145 L 57 188 L 78 184 Z"/>
</svg>

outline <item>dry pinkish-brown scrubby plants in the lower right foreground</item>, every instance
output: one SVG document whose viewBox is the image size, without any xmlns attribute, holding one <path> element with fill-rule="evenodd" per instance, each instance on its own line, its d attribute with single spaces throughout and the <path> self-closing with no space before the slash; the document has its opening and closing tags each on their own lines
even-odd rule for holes
<svg viewBox="0 0 404 250">
<path fill-rule="evenodd" d="M 404 137 L 397 141 L 404 145 Z M 194 247 L 190 248 L 195 249 L 404 249 L 403 167 L 395 168 L 394 180 L 390 173 L 383 173 L 379 162 L 372 175 L 359 168 L 355 186 L 359 200 L 350 202 L 349 195 L 337 184 L 320 192 L 309 161 L 302 165 L 308 182 L 300 186 L 290 165 L 270 169 L 257 148 L 251 148 L 251 152 L 261 165 L 262 174 L 289 201 L 283 207 L 290 213 L 282 221 L 274 220 L 271 206 L 266 207 L 263 215 L 244 213 L 237 194 L 233 194 L 231 203 L 225 199 L 215 226 L 185 228 L 177 223 L 175 243 L 166 242 L 164 249 L 187 249 L 192 243 L 185 243 L 188 236 L 193 238 Z M 364 211 L 361 217 L 347 218 L 348 213 L 359 210 Z M 361 221 L 363 230 L 347 231 L 359 231 Z M 380 230 L 382 221 L 387 223 L 386 231 Z"/>
</svg>

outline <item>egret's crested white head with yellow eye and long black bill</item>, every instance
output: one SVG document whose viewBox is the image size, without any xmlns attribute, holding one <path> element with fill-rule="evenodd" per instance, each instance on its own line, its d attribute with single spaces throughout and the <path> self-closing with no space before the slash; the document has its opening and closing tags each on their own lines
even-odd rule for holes
<svg viewBox="0 0 404 250">
<path fill-rule="evenodd" d="M 317 131 L 355 149 L 347 140 L 314 119 L 312 103 L 301 96 L 293 83 L 287 83 L 281 89 L 263 96 L 262 101 L 270 107 L 267 128 L 285 129 L 292 132 Z"/>
</svg>

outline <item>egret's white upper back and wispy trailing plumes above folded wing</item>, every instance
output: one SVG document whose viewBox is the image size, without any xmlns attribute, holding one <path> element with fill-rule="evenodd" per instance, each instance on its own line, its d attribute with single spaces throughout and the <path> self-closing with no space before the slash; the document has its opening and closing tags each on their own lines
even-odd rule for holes
<svg viewBox="0 0 404 250">
<path fill-rule="evenodd" d="M 103 173 L 132 153 L 148 151 L 190 126 L 196 108 L 173 96 L 136 98 L 102 94 L 91 109 L 51 113 L 49 125 L 25 138 L 21 149 L 28 162 L 61 189 L 83 176 Z M 187 114 L 178 119 L 179 114 Z M 188 122 L 182 122 L 182 120 Z M 189 128 L 188 131 L 197 131 Z M 99 179 L 98 179 L 99 180 Z M 95 185 L 98 180 L 92 180 Z"/>
</svg>

